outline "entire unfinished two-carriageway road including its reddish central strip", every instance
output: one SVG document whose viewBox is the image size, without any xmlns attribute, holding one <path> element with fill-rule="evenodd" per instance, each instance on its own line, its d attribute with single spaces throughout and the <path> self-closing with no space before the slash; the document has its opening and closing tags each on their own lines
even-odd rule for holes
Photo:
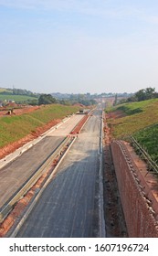
<svg viewBox="0 0 158 256">
<path fill-rule="evenodd" d="M 1 237 L 106 236 L 102 124 L 74 114 L 1 160 Z"/>
</svg>

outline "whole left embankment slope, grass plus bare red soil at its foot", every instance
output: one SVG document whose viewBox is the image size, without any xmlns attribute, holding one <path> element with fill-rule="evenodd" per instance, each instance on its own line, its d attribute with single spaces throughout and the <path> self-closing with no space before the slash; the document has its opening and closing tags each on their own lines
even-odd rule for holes
<svg viewBox="0 0 158 256">
<path fill-rule="evenodd" d="M 79 107 L 47 105 L 35 112 L 0 117 L 0 158 L 44 133 L 68 114 L 78 110 Z"/>
</svg>

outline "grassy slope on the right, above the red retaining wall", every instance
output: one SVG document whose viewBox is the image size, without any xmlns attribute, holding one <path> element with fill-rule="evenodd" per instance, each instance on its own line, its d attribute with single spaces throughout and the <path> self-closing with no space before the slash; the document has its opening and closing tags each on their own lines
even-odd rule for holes
<svg viewBox="0 0 158 256">
<path fill-rule="evenodd" d="M 112 136 L 126 139 L 133 136 L 139 144 L 158 160 L 158 99 L 125 103 L 106 110 Z M 117 118 L 117 113 L 122 115 Z M 115 117 L 114 117 L 115 113 Z"/>
</svg>

